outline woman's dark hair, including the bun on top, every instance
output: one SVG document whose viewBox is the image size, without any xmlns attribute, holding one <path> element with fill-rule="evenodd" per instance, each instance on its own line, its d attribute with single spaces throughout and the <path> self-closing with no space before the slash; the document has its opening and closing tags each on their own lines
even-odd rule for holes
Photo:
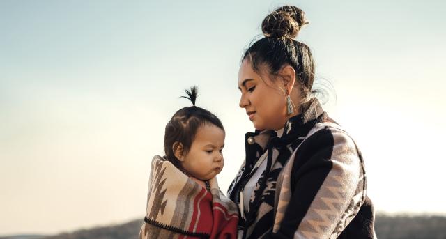
<svg viewBox="0 0 446 239">
<path fill-rule="evenodd" d="M 294 40 L 303 25 L 308 24 L 305 13 L 295 6 L 282 6 L 262 22 L 264 38 L 249 46 L 243 60 L 250 61 L 256 72 L 266 66 L 269 73 L 278 76 L 279 70 L 289 64 L 295 70 L 296 81 L 302 91 L 302 102 L 309 100 L 314 82 L 312 52 L 304 43 Z"/>
</svg>

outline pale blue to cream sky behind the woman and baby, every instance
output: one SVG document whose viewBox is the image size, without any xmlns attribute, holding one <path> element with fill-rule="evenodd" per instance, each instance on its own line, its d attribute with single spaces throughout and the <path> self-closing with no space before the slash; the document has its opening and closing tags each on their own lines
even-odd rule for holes
<svg viewBox="0 0 446 239">
<path fill-rule="evenodd" d="M 226 129 L 226 192 L 254 130 L 240 57 L 284 4 L 307 14 L 297 40 L 376 210 L 446 215 L 445 1 L 0 0 L 0 236 L 142 219 L 151 158 L 192 85 Z"/>
</svg>

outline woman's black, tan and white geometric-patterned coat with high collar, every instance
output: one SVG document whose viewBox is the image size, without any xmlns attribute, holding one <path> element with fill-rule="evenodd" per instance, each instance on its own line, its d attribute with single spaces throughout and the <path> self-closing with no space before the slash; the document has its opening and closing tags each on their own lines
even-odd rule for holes
<svg viewBox="0 0 446 239">
<path fill-rule="evenodd" d="M 247 133 L 245 148 L 245 162 L 228 191 L 236 203 L 256 160 L 266 153 L 268 161 L 240 218 L 240 238 L 374 238 L 362 155 L 316 98 L 286 122 L 281 137 Z"/>
</svg>

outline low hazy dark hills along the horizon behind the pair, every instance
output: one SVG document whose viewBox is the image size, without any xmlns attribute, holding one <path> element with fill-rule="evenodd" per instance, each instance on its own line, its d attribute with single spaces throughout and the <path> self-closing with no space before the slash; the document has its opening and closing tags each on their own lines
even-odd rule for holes
<svg viewBox="0 0 446 239">
<path fill-rule="evenodd" d="M 0 239 L 135 239 L 138 238 L 142 220 L 125 224 L 82 229 L 55 236 L 17 235 Z M 376 216 L 378 239 L 446 239 L 446 217 L 440 216 Z"/>
</svg>

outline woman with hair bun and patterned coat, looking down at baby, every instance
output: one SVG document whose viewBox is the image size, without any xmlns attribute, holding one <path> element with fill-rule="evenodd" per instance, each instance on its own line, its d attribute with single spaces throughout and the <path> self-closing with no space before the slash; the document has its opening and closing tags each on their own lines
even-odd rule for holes
<svg viewBox="0 0 446 239">
<path fill-rule="evenodd" d="M 228 190 L 239 238 L 375 237 L 362 155 L 314 98 L 312 54 L 293 40 L 307 23 L 299 8 L 277 8 L 240 65 L 240 107 L 256 132 Z"/>
</svg>

